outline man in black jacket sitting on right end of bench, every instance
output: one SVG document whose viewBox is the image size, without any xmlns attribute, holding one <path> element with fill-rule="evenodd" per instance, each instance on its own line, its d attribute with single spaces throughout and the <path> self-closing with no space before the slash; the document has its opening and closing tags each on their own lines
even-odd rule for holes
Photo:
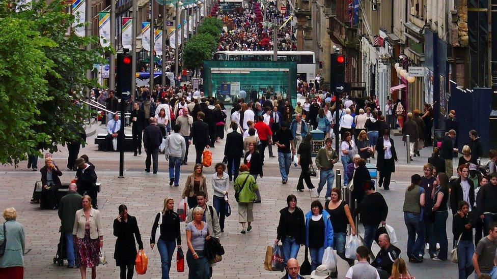
<svg viewBox="0 0 497 279">
<path fill-rule="evenodd" d="M 77 166 L 76 171 L 76 185 L 78 194 L 83 196 L 85 192 L 92 198 L 92 206 L 98 209 L 97 206 L 97 174 L 95 173 L 95 166 L 85 162 L 85 159 L 78 158 L 74 164 Z"/>
</svg>

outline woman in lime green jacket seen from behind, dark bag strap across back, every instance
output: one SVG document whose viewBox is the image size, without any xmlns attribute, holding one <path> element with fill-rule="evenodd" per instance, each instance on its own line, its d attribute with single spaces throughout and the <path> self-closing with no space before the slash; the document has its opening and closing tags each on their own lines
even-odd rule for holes
<svg viewBox="0 0 497 279">
<path fill-rule="evenodd" d="M 255 191 L 259 189 L 257 182 L 249 172 L 248 166 L 240 165 L 240 174 L 236 177 L 233 184 L 235 193 L 238 193 L 238 222 L 241 223 L 241 233 L 245 234 L 245 223 L 248 222 L 247 231 L 252 230 L 251 223 L 254 221 L 252 209 L 254 201 L 257 198 Z"/>
</svg>

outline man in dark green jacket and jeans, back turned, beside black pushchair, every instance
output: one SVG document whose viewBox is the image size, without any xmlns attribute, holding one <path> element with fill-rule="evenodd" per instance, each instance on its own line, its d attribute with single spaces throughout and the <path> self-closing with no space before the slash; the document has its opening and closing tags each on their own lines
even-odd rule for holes
<svg viewBox="0 0 497 279">
<path fill-rule="evenodd" d="M 76 192 L 76 183 L 69 184 L 69 192 L 59 204 L 59 218 L 61 219 L 62 232 L 66 238 L 67 267 L 74 268 L 74 243 L 72 240 L 72 228 L 76 211 L 81 209 L 81 196 Z"/>
</svg>

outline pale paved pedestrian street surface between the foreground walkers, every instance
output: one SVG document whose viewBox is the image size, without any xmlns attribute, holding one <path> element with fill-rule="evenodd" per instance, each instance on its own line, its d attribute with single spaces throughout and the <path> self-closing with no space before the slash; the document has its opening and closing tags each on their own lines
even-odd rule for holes
<svg viewBox="0 0 497 279">
<path fill-rule="evenodd" d="M 98 127 L 97 133 L 103 131 Z M 165 197 L 173 197 L 175 204 L 181 199 L 181 192 L 186 181 L 186 176 L 191 173 L 195 157 L 195 148 L 190 146 L 189 161 L 187 166 L 181 168 L 180 187 L 169 186 L 169 175 L 167 164 L 163 155 L 159 155 L 159 173 L 145 173 L 144 161 L 145 153 L 141 157 L 133 157 L 132 153 L 125 153 L 125 177 L 118 178 L 119 153 L 96 151 L 93 144 L 95 136 L 88 138 L 87 146 L 80 150 L 79 155 L 87 154 L 90 162 L 96 166 L 98 182 L 101 182 L 101 192 L 98 194 L 98 206 L 102 213 L 103 224 L 103 251 L 106 254 L 108 265 L 97 267 L 98 278 L 119 278 L 119 268 L 116 267 L 113 259 L 113 252 L 116 237 L 113 235 L 113 220 L 118 216 L 118 206 L 126 204 L 130 215 L 137 218 L 145 252 L 149 257 L 148 270 L 145 275 L 138 278 L 160 278 L 160 258 L 157 248 L 150 249 L 150 232 L 155 214 L 162 209 Z M 405 165 L 405 151 L 402 149 L 402 142 L 399 137 L 395 137 L 397 150 L 400 157 L 397 165 L 397 172 L 392 179 L 395 182 L 391 185 L 391 190 L 386 192 L 382 189 L 379 192 L 384 195 L 389 204 L 389 215 L 387 223 L 393 226 L 397 233 L 397 246 L 402 250 L 402 258 L 407 262 L 406 242 L 407 232 L 403 221 L 402 203 L 404 200 L 404 190 L 407 187 L 410 175 L 417 172 L 422 173 L 422 164 L 426 162 L 428 148 L 422 150 L 422 157 L 415 158 L 410 165 Z M 54 163 L 63 170 L 62 181 L 69 182 L 75 172 L 65 168 L 67 160 L 67 149 L 53 154 Z M 213 152 L 213 165 L 223 159 L 224 141 L 216 144 Z M 403 156 L 403 158 L 402 158 Z M 373 160 L 374 163 L 374 160 Z M 43 160 L 39 160 L 38 166 L 43 166 Z M 337 164 L 336 169 L 341 169 Z M 210 175 L 213 173 L 213 166 L 204 168 L 204 175 L 207 176 L 208 184 L 208 204 L 212 205 L 212 186 Z M 279 220 L 279 210 L 286 206 L 288 194 L 297 196 L 297 206 L 304 212 L 310 210 L 310 203 L 314 200 L 315 192 L 309 191 L 298 193 L 295 190 L 300 168 L 291 167 L 289 181 L 286 185 L 281 183 L 278 168 L 278 158 L 269 158 L 266 154 L 264 165 L 264 177 L 258 179 L 262 203 L 254 205 L 255 221 L 252 231 L 243 235 L 240 233 L 241 226 L 238 223 L 237 205 L 234 201 L 232 185 L 230 188 L 230 202 L 232 215 L 226 219 L 226 227 L 220 242 L 223 244 L 226 254 L 223 260 L 213 267 L 213 278 L 281 278 L 282 272 L 269 272 L 264 270 L 263 262 L 266 246 L 270 245 L 275 237 Z M 17 221 L 25 227 L 26 234 L 26 255 L 24 257 L 25 278 L 77 278 L 79 270 L 60 267 L 52 263 L 52 259 L 57 251 L 59 242 L 60 220 L 56 210 L 40 210 L 38 204 L 30 204 L 33 185 L 40 180 L 40 173 L 26 169 L 26 162 L 19 163 L 18 168 L 13 166 L 0 167 L 0 208 L 13 206 L 18 212 Z M 313 183 L 317 186 L 317 179 L 313 177 Z M 324 197 L 319 198 L 324 203 Z M 175 205 L 176 208 L 176 205 Z M 452 243 L 452 232 L 450 231 L 452 219 L 448 219 L 449 243 Z M 182 246 L 186 253 L 187 245 L 182 226 Z M 363 230 L 360 229 L 360 233 Z M 374 243 L 373 252 L 376 254 L 379 247 Z M 298 261 L 303 261 L 304 247 L 301 247 Z M 457 265 L 446 262 L 435 262 L 425 257 L 425 262 L 421 264 L 407 263 L 411 275 L 416 278 L 456 278 Z M 185 263 L 185 272 L 176 272 L 176 253 L 173 257 L 171 268 L 172 278 L 186 278 L 188 267 Z M 348 265 L 342 259 L 338 260 L 339 278 L 343 278 Z M 88 275 L 89 275 L 88 271 Z"/>
</svg>

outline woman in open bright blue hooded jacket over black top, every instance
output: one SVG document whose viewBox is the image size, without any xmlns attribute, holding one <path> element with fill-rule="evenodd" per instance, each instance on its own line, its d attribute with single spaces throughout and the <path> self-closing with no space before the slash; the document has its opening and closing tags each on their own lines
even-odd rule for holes
<svg viewBox="0 0 497 279">
<path fill-rule="evenodd" d="M 311 203 L 311 210 L 306 214 L 306 246 L 311 253 L 312 270 L 321 265 L 324 250 L 333 247 L 333 226 L 329 213 L 317 200 Z"/>
</svg>

